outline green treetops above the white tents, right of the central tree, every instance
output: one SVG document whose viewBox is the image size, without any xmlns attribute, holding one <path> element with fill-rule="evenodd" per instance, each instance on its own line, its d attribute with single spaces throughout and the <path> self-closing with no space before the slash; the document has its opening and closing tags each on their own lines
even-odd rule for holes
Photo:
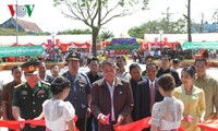
<svg viewBox="0 0 218 131">
<path fill-rule="evenodd" d="M 157 21 L 148 21 L 138 27 L 133 27 L 128 31 L 128 34 L 132 37 L 144 38 L 144 34 L 159 34 L 159 31 L 164 31 L 168 34 L 183 34 L 185 28 L 185 20 L 180 19 L 175 22 L 170 22 L 166 17 Z"/>
</svg>

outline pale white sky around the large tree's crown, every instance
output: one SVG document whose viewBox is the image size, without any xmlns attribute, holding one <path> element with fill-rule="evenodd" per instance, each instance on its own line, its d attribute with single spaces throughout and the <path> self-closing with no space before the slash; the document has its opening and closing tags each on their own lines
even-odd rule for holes
<svg viewBox="0 0 218 131">
<path fill-rule="evenodd" d="M 166 16 L 167 8 L 171 20 L 175 21 L 186 14 L 187 0 L 150 0 L 146 11 L 113 19 L 104 25 L 102 31 L 111 31 L 116 36 L 126 35 L 128 29 L 140 26 L 147 21 L 159 20 Z M 11 17 L 8 4 L 15 4 L 16 0 L 0 0 L 0 23 Z M 60 10 L 52 5 L 53 0 L 17 0 L 19 5 L 35 4 L 32 16 L 22 20 L 36 23 L 44 32 L 57 33 L 59 31 L 88 28 L 84 23 L 64 17 Z M 218 9 L 218 0 L 192 0 L 192 19 L 199 23 L 204 13 L 204 21 L 211 23 L 213 14 Z"/>
</svg>

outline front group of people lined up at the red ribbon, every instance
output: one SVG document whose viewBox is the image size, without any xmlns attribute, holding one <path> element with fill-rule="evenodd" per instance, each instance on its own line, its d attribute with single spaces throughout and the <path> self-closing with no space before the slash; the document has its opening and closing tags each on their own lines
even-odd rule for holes
<svg viewBox="0 0 218 131">
<path fill-rule="evenodd" d="M 78 71 L 80 57 L 69 52 L 69 70 L 63 74 L 53 64 L 48 75 L 43 61 L 13 67 L 13 80 L 2 87 L 3 119 L 46 121 L 46 127 L 26 123 L 23 131 L 114 131 L 118 126 L 152 117 L 145 131 L 177 131 L 180 127 L 199 131 L 196 123 L 217 118 L 218 81 L 206 73 L 204 58 L 183 68 L 180 78 L 180 61 L 171 63 L 169 56 L 160 58 L 160 67 L 147 62 L 145 71 L 137 62 L 126 71 L 123 56 L 104 61 L 93 57 L 86 73 Z"/>
</svg>

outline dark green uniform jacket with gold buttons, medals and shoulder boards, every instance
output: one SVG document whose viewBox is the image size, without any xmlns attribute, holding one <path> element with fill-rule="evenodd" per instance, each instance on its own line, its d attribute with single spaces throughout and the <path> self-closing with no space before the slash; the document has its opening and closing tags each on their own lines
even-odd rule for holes
<svg viewBox="0 0 218 131">
<path fill-rule="evenodd" d="M 21 118 L 34 119 L 38 117 L 43 111 L 43 103 L 51 98 L 51 92 L 49 84 L 43 81 L 38 81 L 38 84 L 32 90 L 27 83 L 15 86 L 13 93 L 13 106 L 16 106 L 21 110 Z M 29 126 L 25 126 L 24 131 L 45 131 L 45 127 L 37 127 L 32 129 Z"/>
</svg>

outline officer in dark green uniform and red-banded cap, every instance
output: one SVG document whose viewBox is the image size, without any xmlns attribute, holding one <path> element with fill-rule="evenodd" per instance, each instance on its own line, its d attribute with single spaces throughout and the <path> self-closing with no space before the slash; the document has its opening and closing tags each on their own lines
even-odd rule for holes
<svg viewBox="0 0 218 131">
<path fill-rule="evenodd" d="M 26 82 L 14 87 L 12 112 L 15 120 L 37 119 L 43 111 L 43 103 L 51 98 L 50 86 L 40 81 L 39 62 L 22 64 Z M 25 124 L 23 131 L 45 131 L 45 127 Z"/>
</svg>

